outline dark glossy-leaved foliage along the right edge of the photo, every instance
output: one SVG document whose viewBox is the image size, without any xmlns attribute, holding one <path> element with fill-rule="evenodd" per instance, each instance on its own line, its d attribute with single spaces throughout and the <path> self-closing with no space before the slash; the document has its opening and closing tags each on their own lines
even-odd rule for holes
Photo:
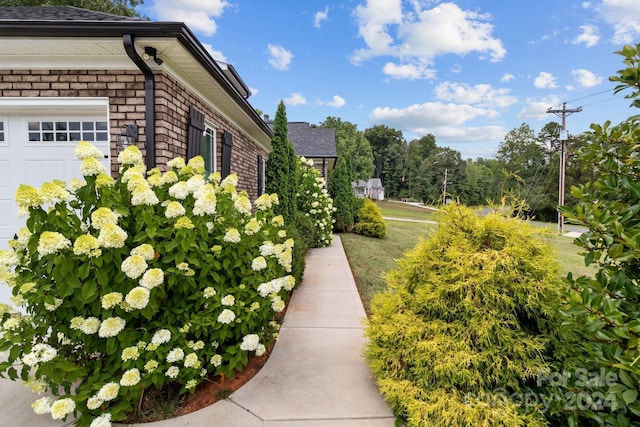
<svg viewBox="0 0 640 427">
<path fill-rule="evenodd" d="M 640 44 L 617 53 L 627 68 L 610 80 L 620 82 L 616 92 L 631 87 L 627 97 L 640 107 Z M 591 128 L 593 142 L 579 157 L 597 178 L 572 187 L 578 203 L 561 211 L 587 228 L 575 243 L 598 272 L 567 277 L 573 304 L 566 315 L 580 329 L 585 369 L 604 381 L 577 389 L 596 398 L 568 416 L 571 425 L 640 426 L 640 116 Z"/>
</svg>

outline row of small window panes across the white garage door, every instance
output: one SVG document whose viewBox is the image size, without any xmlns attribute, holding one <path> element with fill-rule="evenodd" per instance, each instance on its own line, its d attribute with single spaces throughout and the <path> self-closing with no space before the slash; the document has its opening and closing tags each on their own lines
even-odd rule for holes
<svg viewBox="0 0 640 427">
<path fill-rule="evenodd" d="M 40 121 L 28 122 L 30 142 L 108 141 L 107 122 Z"/>
</svg>

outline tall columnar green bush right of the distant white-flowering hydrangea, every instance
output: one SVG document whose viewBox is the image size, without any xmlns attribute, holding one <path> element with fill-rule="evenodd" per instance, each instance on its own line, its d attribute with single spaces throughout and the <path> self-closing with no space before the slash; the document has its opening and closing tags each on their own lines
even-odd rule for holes
<svg viewBox="0 0 640 427">
<path fill-rule="evenodd" d="M 355 222 L 356 195 L 353 192 L 351 165 L 348 157 L 340 157 L 329 177 L 329 194 L 336 208 L 333 229 L 339 233 L 351 231 Z"/>
</svg>

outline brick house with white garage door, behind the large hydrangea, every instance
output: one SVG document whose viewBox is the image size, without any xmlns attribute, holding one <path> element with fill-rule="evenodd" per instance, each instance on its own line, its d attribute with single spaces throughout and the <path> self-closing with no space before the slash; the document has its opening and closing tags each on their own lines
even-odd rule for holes
<svg viewBox="0 0 640 427">
<path fill-rule="evenodd" d="M 148 169 L 203 155 L 257 197 L 272 130 L 235 69 L 180 22 L 70 6 L 0 7 L 0 249 L 22 226 L 19 184 L 80 177 L 87 140 L 114 175 L 128 134 Z M 125 138 L 126 139 L 126 138 Z"/>
</svg>

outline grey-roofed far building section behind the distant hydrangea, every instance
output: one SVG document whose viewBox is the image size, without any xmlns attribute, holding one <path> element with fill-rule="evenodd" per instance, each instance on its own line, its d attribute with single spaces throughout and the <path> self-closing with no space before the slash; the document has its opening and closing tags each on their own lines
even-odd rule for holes
<svg viewBox="0 0 640 427">
<path fill-rule="evenodd" d="M 273 122 L 269 122 L 269 126 L 273 129 Z M 313 160 L 326 181 L 338 160 L 335 129 L 311 127 L 308 122 L 288 122 L 287 137 L 296 156 Z"/>
</svg>

